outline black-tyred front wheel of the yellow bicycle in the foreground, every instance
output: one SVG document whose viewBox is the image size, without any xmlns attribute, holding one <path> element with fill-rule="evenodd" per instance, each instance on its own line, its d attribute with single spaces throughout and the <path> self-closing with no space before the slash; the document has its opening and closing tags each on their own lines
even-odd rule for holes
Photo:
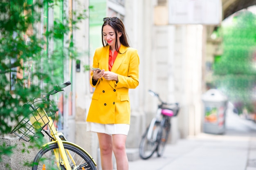
<svg viewBox="0 0 256 170">
<path fill-rule="evenodd" d="M 94 162 L 81 148 L 71 144 L 63 144 L 72 170 L 96 170 Z M 58 150 L 57 143 L 49 144 L 41 149 L 34 161 L 32 170 L 66 170 L 61 161 L 57 161 L 54 150 Z M 68 154 L 68 152 L 70 154 Z"/>
</svg>

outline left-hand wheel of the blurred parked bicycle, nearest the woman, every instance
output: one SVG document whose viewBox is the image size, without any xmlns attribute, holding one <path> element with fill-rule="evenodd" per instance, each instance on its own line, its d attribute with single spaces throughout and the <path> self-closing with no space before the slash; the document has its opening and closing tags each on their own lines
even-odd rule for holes
<svg viewBox="0 0 256 170">
<path fill-rule="evenodd" d="M 157 149 L 157 136 L 160 131 L 160 122 L 152 121 L 151 125 L 147 128 L 142 136 L 139 145 L 139 156 L 142 159 L 150 158 Z"/>
</svg>

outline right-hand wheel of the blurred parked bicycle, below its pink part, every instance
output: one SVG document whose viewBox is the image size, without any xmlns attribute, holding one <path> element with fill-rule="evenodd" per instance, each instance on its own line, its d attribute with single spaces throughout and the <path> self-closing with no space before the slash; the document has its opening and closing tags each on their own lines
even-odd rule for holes
<svg viewBox="0 0 256 170">
<path fill-rule="evenodd" d="M 164 117 L 161 122 L 161 133 L 159 134 L 159 141 L 157 146 L 157 156 L 161 157 L 164 153 L 164 147 L 167 142 L 169 132 L 170 132 L 170 119 L 168 117 Z"/>
</svg>

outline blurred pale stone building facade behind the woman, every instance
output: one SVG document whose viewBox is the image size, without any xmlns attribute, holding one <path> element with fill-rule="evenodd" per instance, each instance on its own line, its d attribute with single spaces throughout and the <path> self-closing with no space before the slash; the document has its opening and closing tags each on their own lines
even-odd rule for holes
<svg viewBox="0 0 256 170">
<path fill-rule="evenodd" d="M 256 1 L 252 0 L 89 1 L 88 6 L 93 8 L 89 12 L 88 25 L 79 30 L 87 33 L 88 29 L 89 43 L 81 40 L 79 32 L 76 37 L 76 44 L 86 48 L 89 54 L 81 57 L 81 64 L 90 65 L 95 48 L 102 46 L 104 17 L 121 18 L 131 46 L 139 51 L 140 84 L 130 90 L 132 113 L 127 148 L 138 148 L 141 135 L 155 114 L 157 100 L 148 95 L 149 89 L 159 93 L 165 101 L 181 104 L 179 116 L 172 119 L 171 143 L 202 131 L 204 110 L 201 96 L 213 88 L 212 66 L 215 57 L 223 53 L 222 39 L 213 38 L 213 32 L 222 20 L 254 4 Z M 89 74 L 81 72 L 75 75 L 75 81 L 83 79 L 85 83 L 76 83 L 79 91 L 85 90 L 85 93 L 76 93 L 76 115 L 83 115 L 84 119 L 93 91 Z M 79 122 L 76 121 L 77 133 L 81 125 L 85 126 L 84 121 Z M 84 137 L 76 139 L 76 143 L 85 144 L 84 139 L 90 136 L 91 142 L 86 142 L 84 147 L 94 153 L 97 137 L 91 133 L 83 134 Z"/>
</svg>

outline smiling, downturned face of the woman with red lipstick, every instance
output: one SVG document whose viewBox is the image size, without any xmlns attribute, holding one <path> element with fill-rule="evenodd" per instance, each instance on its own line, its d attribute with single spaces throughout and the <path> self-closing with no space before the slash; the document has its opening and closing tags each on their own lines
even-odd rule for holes
<svg viewBox="0 0 256 170">
<path fill-rule="evenodd" d="M 104 40 L 112 47 L 112 50 L 115 49 L 115 42 L 116 42 L 116 34 L 115 30 L 110 25 L 103 26 L 103 38 Z M 117 42 L 120 44 L 119 37 L 121 37 L 121 33 L 117 32 Z"/>
</svg>

